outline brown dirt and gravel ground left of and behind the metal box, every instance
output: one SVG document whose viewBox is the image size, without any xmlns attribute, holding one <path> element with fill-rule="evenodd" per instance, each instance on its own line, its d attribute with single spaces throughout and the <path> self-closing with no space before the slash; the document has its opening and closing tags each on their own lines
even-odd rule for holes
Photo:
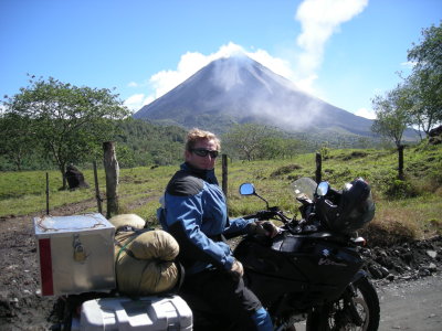
<svg viewBox="0 0 442 331">
<path fill-rule="evenodd" d="M 73 215 L 94 201 L 67 204 L 52 215 Z M 0 217 L 0 330 L 49 330 L 55 298 L 41 297 L 40 268 L 32 220 L 41 214 Z"/>
</svg>

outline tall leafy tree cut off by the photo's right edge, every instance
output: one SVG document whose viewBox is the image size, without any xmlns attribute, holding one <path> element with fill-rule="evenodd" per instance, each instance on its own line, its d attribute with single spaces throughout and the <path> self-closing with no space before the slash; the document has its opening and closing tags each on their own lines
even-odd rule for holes
<svg viewBox="0 0 442 331">
<path fill-rule="evenodd" d="M 422 31 L 423 41 L 408 51 L 408 60 L 415 63 L 407 78 L 412 87 L 413 124 L 428 134 L 442 122 L 442 22 Z"/>
</svg>

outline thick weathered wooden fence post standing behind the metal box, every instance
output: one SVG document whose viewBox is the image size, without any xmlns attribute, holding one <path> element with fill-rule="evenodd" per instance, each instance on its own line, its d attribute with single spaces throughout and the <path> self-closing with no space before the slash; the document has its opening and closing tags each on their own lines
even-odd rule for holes
<svg viewBox="0 0 442 331">
<path fill-rule="evenodd" d="M 106 172 L 106 217 L 118 214 L 118 177 L 119 166 L 115 153 L 115 141 L 103 142 L 104 170 Z"/>
</svg>

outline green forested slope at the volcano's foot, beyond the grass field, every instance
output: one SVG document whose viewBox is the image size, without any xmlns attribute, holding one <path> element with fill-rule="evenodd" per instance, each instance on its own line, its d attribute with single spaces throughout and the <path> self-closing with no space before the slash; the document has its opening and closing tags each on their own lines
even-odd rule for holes
<svg viewBox="0 0 442 331">
<path fill-rule="evenodd" d="M 0 121 L 2 118 L 0 118 Z M 185 145 L 185 138 L 187 130 L 182 127 L 170 126 L 170 125 L 158 125 L 139 119 L 126 119 L 115 121 L 118 127 L 118 134 L 114 137 L 117 142 L 117 154 L 118 162 L 122 168 L 134 168 L 134 167 L 148 167 L 148 166 L 166 166 L 177 164 L 182 157 L 182 150 Z M 217 122 L 217 125 L 221 125 Z M 248 125 L 242 125 L 243 127 Z M 270 150 L 281 150 L 282 145 L 292 145 L 288 149 L 288 154 L 313 152 L 323 147 L 327 148 L 368 148 L 368 147 L 385 147 L 389 146 L 387 142 L 382 142 L 379 139 L 367 138 L 360 136 L 348 136 L 339 135 L 335 131 L 324 132 L 311 132 L 311 134 L 295 134 L 286 132 L 273 127 L 255 126 L 256 130 L 269 131 L 269 137 L 277 138 L 280 141 L 271 142 L 263 140 L 260 142 L 261 149 L 269 149 L 269 152 L 259 152 L 257 158 L 270 158 L 277 156 L 278 153 L 271 152 Z M 204 126 L 201 126 L 206 128 Z M 235 126 L 231 127 L 234 128 Z M 215 131 L 215 130 L 214 130 Z M 225 135 L 221 136 L 221 139 L 225 138 Z M 266 137 L 266 138 L 269 138 Z M 264 138 L 264 137 L 261 137 Z M 9 138 L 6 138 L 9 139 Z M 285 140 L 281 145 L 281 140 Z M 25 153 L 20 154 L 21 157 L 21 170 L 52 170 L 56 169 L 56 166 L 51 162 L 51 159 L 43 151 L 39 145 L 38 139 L 33 140 L 34 148 L 28 149 Z M 17 141 L 17 147 L 20 148 L 20 141 Z M 224 145 L 224 149 L 233 158 L 241 158 L 240 154 L 233 153 L 232 149 L 229 149 Z M 92 162 L 96 160 L 101 163 L 102 146 L 95 146 L 95 152 L 82 156 L 81 164 L 75 164 L 82 169 L 88 169 L 92 167 Z M 0 150 L 0 171 L 13 171 L 18 170 L 13 158 L 8 157 L 7 153 L 2 153 Z"/>
</svg>

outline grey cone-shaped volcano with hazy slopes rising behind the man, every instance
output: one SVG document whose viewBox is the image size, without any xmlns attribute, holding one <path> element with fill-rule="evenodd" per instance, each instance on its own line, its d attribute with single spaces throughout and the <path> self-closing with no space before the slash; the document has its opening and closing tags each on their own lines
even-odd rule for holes
<svg viewBox="0 0 442 331">
<path fill-rule="evenodd" d="M 225 132 L 233 124 L 265 124 L 293 132 L 370 136 L 372 120 L 308 95 L 243 55 L 215 60 L 134 118 Z"/>
</svg>

